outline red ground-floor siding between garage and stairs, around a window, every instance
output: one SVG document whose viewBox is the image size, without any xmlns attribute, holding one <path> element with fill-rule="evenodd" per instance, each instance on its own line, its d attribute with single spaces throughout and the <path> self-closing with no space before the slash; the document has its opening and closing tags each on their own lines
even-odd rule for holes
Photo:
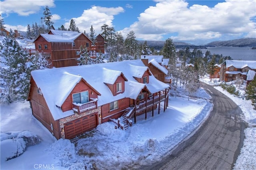
<svg viewBox="0 0 256 170">
<path fill-rule="evenodd" d="M 109 121 L 110 119 L 118 119 L 122 116 L 125 109 L 130 107 L 129 105 L 129 98 L 124 98 L 118 100 L 118 109 L 114 109 L 110 111 L 109 103 L 102 105 L 101 111 L 102 111 L 102 123 Z"/>
</svg>

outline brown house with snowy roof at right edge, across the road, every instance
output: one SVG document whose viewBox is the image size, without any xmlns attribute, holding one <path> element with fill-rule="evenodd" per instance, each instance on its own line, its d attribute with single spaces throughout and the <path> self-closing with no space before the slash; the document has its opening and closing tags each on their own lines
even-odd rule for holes
<svg viewBox="0 0 256 170">
<path fill-rule="evenodd" d="M 233 81 L 237 77 L 246 79 L 248 70 L 256 71 L 256 61 L 226 60 L 220 68 L 220 81 Z"/>
</svg>

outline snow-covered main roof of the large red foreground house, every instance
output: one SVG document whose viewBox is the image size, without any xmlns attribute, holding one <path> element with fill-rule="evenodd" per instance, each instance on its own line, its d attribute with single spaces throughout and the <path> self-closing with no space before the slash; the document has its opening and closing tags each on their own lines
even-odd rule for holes
<svg viewBox="0 0 256 170">
<path fill-rule="evenodd" d="M 141 78 L 147 69 L 148 67 L 141 60 L 127 60 L 113 63 L 35 70 L 31 72 L 31 75 L 38 88 L 42 91 L 42 95 L 46 100 L 54 120 L 58 120 L 74 114 L 73 111 L 63 113 L 56 105 L 61 107 L 76 83 L 81 79 L 84 79 L 84 81 L 100 94 L 98 95 L 98 106 L 125 97 L 136 99 L 145 86 L 150 93 L 155 93 L 169 87 L 166 83 L 158 81 L 153 75 L 149 76 L 149 84 L 138 83 L 134 77 Z M 127 79 L 125 81 L 125 91 L 124 93 L 113 96 L 105 83 L 113 84 L 121 74 Z"/>
</svg>

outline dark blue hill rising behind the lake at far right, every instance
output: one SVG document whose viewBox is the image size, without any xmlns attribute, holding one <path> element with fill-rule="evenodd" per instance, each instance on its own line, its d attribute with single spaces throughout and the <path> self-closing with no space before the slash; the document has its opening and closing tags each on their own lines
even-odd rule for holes
<svg viewBox="0 0 256 170">
<path fill-rule="evenodd" d="M 206 44 L 212 47 L 256 47 L 256 38 L 241 38 L 237 40 L 216 41 Z"/>
</svg>

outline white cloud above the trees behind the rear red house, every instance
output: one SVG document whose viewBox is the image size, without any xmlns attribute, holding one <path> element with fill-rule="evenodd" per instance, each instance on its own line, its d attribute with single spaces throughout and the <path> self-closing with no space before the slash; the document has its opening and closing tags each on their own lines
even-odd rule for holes
<svg viewBox="0 0 256 170">
<path fill-rule="evenodd" d="M 105 8 L 101 6 L 92 6 L 92 8 L 84 10 L 82 16 L 78 18 L 73 18 L 76 26 L 79 28 L 80 32 L 86 31 L 90 32 L 91 25 L 95 30 L 96 34 L 100 34 L 100 27 L 104 24 L 112 27 L 112 20 L 114 20 L 114 15 L 118 15 L 121 12 L 124 12 L 122 7 L 116 8 Z M 69 28 L 69 22 L 66 22 L 64 26 Z"/>
</svg>

